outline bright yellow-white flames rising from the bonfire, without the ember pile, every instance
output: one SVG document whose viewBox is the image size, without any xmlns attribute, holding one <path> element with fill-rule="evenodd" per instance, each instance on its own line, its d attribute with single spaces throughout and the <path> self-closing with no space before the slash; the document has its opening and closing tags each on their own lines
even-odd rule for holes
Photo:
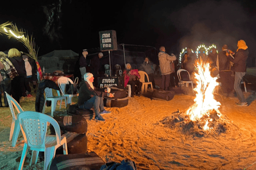
<svg viewBox="0 0 256 170">
<path fill-rule="evenodd" d="M 203 116 L 209 117 L 210 111 L 215 109 L 217 113 L 220 112 L 218 108 L 220 103 L 214 99 L 213 91 L 218 82 L 216 82 L 216 77 L 211 77 L 210 63 L 201 60 L 196 61 L 197 73 L 195 73 L 195 79 L 197 86 L 194 89 L 196 91 L 196 98 L 194 99 L 195 104 L 192 105 L 188 111 L 187 115 L 190 116 L 191 121 L 196 121 Z M 206 122 L 208 124 L 208 121 Z M 207 125 L 206 125 L 207 126 Z M 207 129 L 205 127 L 205 129 Z"/>
</svg>

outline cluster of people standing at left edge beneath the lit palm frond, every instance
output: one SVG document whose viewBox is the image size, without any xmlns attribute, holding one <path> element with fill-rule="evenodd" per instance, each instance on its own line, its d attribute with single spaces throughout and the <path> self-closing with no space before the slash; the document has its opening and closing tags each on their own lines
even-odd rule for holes
<svg viewBox="0 0 256 170">
<path fill-rule="evenodd" d="M 0 52 L 0 95 L 2 91 L 20 103 L 20 98 L 31 97 L 30 82 L 36 88 L 36 63 L 33 58 L 28 57 L 16 48 L 11 48 L 8 54 Z M 0 107 L 3 107 L 0 98 Z M 4 105 L 8 107 L 6 95 L 4 93 Z"/>
</svg>

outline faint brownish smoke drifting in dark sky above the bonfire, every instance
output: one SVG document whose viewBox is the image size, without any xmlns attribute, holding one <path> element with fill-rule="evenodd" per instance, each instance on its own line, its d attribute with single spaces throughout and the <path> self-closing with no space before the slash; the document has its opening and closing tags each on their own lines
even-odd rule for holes
<svg viewBox="0 0 256 170">
<path fill-rule="evenodd" d="M 204 43 L 215 44 L 218 50 L 227 44 L 235 51 L 237 41 L 243 39 L 249 52 L 253 52 L 255 40 L 249 25 L 255 16 L 252 18 L 242 5 L 235 1 L 198 1 L 172 12 L 171 22 L 185 33 L 179 40 L 180 49 L 190 47 L 196 50 Z"/>
</svg>

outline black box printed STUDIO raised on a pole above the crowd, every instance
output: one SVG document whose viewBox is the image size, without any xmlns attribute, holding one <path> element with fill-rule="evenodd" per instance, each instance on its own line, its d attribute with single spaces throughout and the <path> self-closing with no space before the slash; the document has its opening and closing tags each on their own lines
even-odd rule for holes
<svg viewBox="0 0 256 170">
<path fill-rule="evenodd" d="M 102 52 L 108 50 L 117 50 L 116 31 L 100 31 L 100 50 Z"/>
</svg>

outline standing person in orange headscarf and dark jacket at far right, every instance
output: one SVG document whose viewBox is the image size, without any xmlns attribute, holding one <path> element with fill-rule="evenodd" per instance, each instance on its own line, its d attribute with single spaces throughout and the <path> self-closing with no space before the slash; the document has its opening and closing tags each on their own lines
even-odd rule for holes
<svg viewBox="0 0 256 170">
<path fill-rule="evenodd" d="M 249 55 L 248 47 L 246 46 L 246 43 L 244 40 L 239 40 L 237 42 L 237 50 L 236 54 L 233 57 L 231 57 L 230 52 L 227 50 L 226 55 L 228 57 L 228 60 L 233 62 L 233 66 L 231 67 L 231 70 L 235 72 L 235 82 L 234 82 L 234 89 L 236 91 L 237 97 L 239 99 L 239 102 L 236 103 L 237 106 L 248 106 L 243 91 L 240 87 L 241 81 L 246 73 L 246 60 Z"/>
</svg>

